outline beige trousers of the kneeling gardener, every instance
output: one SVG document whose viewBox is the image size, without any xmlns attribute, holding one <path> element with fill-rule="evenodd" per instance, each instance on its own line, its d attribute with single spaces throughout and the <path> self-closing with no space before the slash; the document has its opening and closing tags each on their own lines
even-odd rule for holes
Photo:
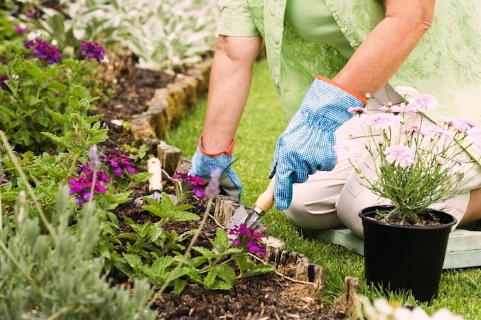
<svg viewBox="0 0 481 320">
<path fill-rule="evenodd" d="M 368 111 L 383 112 L 379 111 L 379 106 L 389 101 L 396 104 L 402 102 L 402 98 L 386 85 L 370 100 Z M 357 116 L 336 131 L 337 141 L 348 137 L 352 137 L 361 147 L 367 141 Z M 460 164 L 456 172 L 462 177 L 459 194 L 443 203 L 436 203 L 432 208 L 447 212 L 460 222 L 469 203 L 469 191 L 481 186 L 481 167 L 466 152 L 461 152 L 457 160 Z M 372 158 L 367 151 L 356 161 L 364 174 L 370 170 L 363 168 L 372 168 Z M 366 176 L 372 179 L 369 174 Z M 362 237 L 362 222 L 357 214 L 365 207 L 386 204 L 389 204 L 387 199 L 373 194 L 359 183 L 358 175 L 348 159 L 338 157 L 332 171 L 317 171 L 306 182 L 293 185 L 292 203 L 285 214 L 296 225 L 306 229 L 323 230 L 344 225 Z"/>
</svg>

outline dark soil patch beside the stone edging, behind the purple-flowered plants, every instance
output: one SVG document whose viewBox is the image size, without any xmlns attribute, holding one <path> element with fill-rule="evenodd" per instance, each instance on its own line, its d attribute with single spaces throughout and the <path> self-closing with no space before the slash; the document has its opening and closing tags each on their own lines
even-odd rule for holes
<svg viewBox="0 0 481 320">
<path fill-rule="evenodd" d="M 109 140 L 99 146 L 102 152 L 121 151 L 123 144 L 132 143 L 131 133 L 111 121 L 117 119 L 130 122 L 133 115 L 146 111 L 147 102 L 153 98 L 155 90 L 173 82 L 175 74 L 140 69 L 135 67 L 133 60 L 129 60 L 117 72 L 116 80 L 114 95 L 99 102 L 96 110 L 96 113 L 104 115 L 102 123 L 109 128 Z"/>
</svg>

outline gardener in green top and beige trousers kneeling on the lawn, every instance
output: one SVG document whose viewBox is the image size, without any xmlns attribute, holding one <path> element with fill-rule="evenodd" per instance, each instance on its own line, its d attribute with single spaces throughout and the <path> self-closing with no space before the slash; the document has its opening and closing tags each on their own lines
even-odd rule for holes
<svg viewBox="0 0 481 320">
<path fill-rule="evenodd" d="M 481 119 L 474 103 L 481 89 L 481 7 L 476 0 L 438 1 L 434 15 L 434 6 L 434 0 L 225 1 L 191 173 L 208 176 L 221 168 L 225 192 L 240 197 L 241 183 L 229 164 L 263 38 L 273 83 L 291 119 L 271 170 L 278 209 L 307 229 L 346 225 L 362 236 L 359 210 L 383 200 L 359 185 L 347 159 L 333 151 L 336 139 L 365 141 L 349 107 L 374 113 L 401 102 L 390 81 L 436 95 L 444 108 L 431 119 Z M 366 93 L 375 93 L 368 106 Z M 464 224 L 481 218 L 481 171 L 462 155 L 462 170 L 474 179 L 440 205 Z"/>
</svg>

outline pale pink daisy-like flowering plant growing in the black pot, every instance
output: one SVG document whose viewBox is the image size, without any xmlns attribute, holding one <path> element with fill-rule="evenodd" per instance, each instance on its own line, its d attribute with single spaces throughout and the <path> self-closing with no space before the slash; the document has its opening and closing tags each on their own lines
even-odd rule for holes
<svg viewBox="0 0 481 320">
<path fill-rule="evenodd" d="M 359 163 L 365 159 L 360 157 L 363 148 L 353 140 L 339 141 L 335 150 L 349 159 L 362 185 L 394 205 L 387 214 L 378 213 L 383 220 L 395 217 L 403 225 L 418 221 L 416 217 L 429 212 L 434 203 L 460 192 L 463 176 L 456 172 L 462 164 L 456 159 L 465 149 L 480 147 L 481 130 L 463 119 L 434 124 L 424 115 L 436 106 L 432 95 L 410 87 L 396 91 L 405 101 L 381 106 L 384 113 L 350 109 L 365 126 L 369 165 Z"/>
</svg>

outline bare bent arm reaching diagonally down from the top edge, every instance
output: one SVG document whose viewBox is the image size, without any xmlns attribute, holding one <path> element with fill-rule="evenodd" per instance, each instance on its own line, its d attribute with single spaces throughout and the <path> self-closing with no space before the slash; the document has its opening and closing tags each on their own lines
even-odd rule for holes
<svg viewBox="0 0 481 320">
<path fill-rule="evenodd" d="M 384 0 L 385 19 L 333 80 L 361 95 L 381 89 L 431 26 L 434 1 Z"/>
</svg>

